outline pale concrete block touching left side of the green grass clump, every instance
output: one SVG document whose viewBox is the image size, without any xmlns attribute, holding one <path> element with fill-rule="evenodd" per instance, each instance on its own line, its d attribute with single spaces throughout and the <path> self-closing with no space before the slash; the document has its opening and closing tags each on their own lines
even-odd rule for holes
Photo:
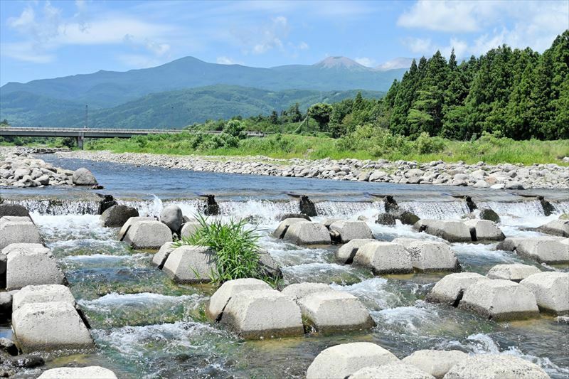
<svg viewBox="0 0 569 379">
<path fill-rule="evenodd" d="M 177 283 L 209 282 L 216 253 L 207 246 L 182 245 L 170 252 L 162 270 Z"/>
</svg>

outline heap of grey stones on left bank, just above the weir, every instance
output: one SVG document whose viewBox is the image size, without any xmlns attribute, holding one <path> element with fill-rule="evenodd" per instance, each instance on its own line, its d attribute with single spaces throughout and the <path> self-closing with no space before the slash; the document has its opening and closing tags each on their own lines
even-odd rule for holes
<svg viewBox="0 0 569 379">
<path fill-rule="evenodd" d="M 0 186 L 97 186 L 95 176 L 87 169 L 75 171 L 55 167 L 36 159 L 25 149 L 0 148 Z"/>
</svg>

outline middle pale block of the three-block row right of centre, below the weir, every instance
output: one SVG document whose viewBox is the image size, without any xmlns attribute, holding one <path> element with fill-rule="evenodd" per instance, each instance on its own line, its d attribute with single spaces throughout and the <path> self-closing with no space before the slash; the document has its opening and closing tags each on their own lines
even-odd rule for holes
<svg viewBox="0 0 569 379">
<path fill-rule="evenodd" d="M 392 242 L 369 242 L 353 257 L 357 265 L 370 267 L 375 274 L 407 274 L 413 272 L 409 252 Z"/>
</svg>

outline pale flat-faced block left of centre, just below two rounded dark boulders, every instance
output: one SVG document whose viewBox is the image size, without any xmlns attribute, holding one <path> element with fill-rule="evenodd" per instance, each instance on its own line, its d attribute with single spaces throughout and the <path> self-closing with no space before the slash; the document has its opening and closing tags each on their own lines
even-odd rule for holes
<svg viewBox="0 0 569 379">
<path fill-rule="evenodd" d="M 172 232 L 159 221 L 136 221 L 122 240 L 134 249 L 159 249 L 164 243 L 171 242 Z"/>
</svg>

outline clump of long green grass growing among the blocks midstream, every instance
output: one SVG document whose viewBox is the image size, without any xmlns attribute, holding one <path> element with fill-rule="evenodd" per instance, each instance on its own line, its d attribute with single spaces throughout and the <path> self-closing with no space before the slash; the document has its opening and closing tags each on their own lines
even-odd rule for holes
<svg viewBox="0 0 569 379">
<path fill-rule="evenodd" d="M 208 221 L 203 215 L 196 215 L 200 227 L 196 233 L 183 236 L 174 242 L 181 245 L 200 245 L 211 247 L 216 252 L 216 269 L 210 272 L 212 284 L 223 284 L 228 280 L 255 278 L 275 285 L 275 279 L 263 272 L 259 262 L 260 235 L 257 227 L 251 228 L 246 220 L 230 219 Z"/>
</svg>

